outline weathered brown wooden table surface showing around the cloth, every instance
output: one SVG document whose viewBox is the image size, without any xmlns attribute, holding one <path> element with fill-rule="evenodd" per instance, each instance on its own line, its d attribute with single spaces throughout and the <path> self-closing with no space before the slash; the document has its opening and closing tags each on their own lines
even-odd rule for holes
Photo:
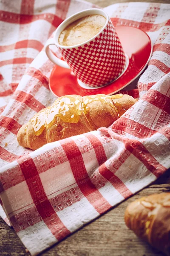
<svg viewBox="0 0 170 256">
<path fill-rule="evenodd" d="M 105 7 L 130 0 L 89 0 Z M 145 2 L 170 3 L 170 0 L 145 0 Z M 122 204 L 86 225 L 73 235 L 42 253 L 42 256 L 162 256 L 128 230 L 124 222 L 127 205 L 142 196 L 170 191 L 170 170 L 155 183 Z M 0 218 L 0 256 L 30 256 L 16 235 Z"/>
</svg>

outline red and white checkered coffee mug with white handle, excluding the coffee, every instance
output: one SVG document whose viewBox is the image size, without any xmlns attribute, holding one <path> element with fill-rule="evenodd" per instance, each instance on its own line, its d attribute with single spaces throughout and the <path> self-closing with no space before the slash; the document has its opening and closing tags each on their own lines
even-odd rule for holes
<svg viewBox="0 0 170 256">
<path fill-rule="evenodd" d="M 70 23 L 88 15 L 102 15 L 106 18 L 105 26 L 93 38 L 75 46 L 62 46 L 58 42 L 60 33 Z M 57 58 L 49 49 L 56 45 L 63 60 Z M 99 87 L 111 83 L 125 69 L 125 52 L 119 41 L 108 14 L 101 9 L 88 9 L 78 12 L 64 20 L 54 32 L 54 38 L 45 44 L 48 58 L 64 68 L 70 68 L 79 83 L 90 87 Z"/>
</svg>

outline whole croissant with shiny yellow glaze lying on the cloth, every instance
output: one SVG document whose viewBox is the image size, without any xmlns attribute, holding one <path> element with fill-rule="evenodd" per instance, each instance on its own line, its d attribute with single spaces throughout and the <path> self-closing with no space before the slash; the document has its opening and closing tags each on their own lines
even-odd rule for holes
<svg viewBox="0 0 170 256">
<path fill-rule="evenodd" d="M 135 102 L 133 97 L 123 94 L 62 96 L 20 128 L 18 143 L 37 149 L 49 142 L 109 127 Z"/>
</svg>

